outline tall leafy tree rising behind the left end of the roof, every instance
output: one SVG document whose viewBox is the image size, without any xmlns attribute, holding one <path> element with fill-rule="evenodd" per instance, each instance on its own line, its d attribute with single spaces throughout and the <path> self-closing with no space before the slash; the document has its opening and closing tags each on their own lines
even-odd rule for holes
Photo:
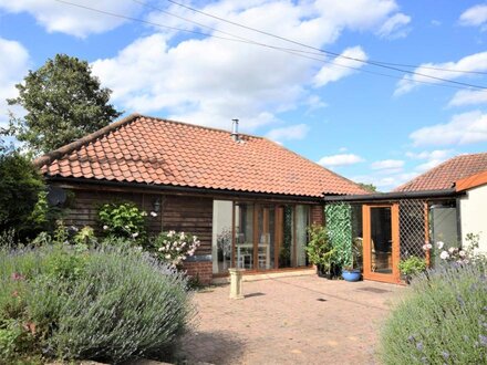
<svg viewBox="0 0 487 365">
<path fill-rule="evenodd" d="M 122 113 L 108 104 L 112 91 L 101 88 L 86 61 L 56 54 L 15 85 L 19 96 L 7 100 L 28 113 L 10 118 L 11 134 L 34 153 L 48 153 L 95 132 Z"/>
</svg>

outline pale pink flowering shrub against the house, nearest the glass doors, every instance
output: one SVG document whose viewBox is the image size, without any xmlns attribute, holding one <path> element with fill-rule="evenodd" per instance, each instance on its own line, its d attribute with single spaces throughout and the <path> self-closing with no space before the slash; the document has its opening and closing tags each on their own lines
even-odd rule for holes
<svg viewBox="0 0 487 365">
<path fill-rule="evenodd" d="M 159 233 L 153 242 L 155 255 L 173 268 L 178 268 L 188 257 L 195 254 L 200 242 L 196 236 L 168 231 Z"/>
</svg>

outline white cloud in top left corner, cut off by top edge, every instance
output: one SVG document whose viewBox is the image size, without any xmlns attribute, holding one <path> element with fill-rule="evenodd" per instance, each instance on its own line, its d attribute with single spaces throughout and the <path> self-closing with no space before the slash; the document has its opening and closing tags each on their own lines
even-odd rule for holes
<svg viewBox="0 0 487 365">
<path fill-rule="evenodd" d="M 138 8 L 131 0 L 83 0 L 73 2 L 123 15 L 134 15 L 135 10 Z M 62 32 L 80 38 L 84 38 L 90 33 L 102 33 L 126 22 L 121 18 L 96 13 L 54 0 L 6 0 L 0 1 L 0 9 L 14 13 L 29 12 L 48 32 Z"/>
</svg>

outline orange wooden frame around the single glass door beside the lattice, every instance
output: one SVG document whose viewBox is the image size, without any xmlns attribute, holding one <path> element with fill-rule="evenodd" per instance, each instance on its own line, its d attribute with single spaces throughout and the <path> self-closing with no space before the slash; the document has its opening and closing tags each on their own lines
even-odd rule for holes
<svg viewBox="0 0 487 365">
<path fill-rule="evenodd" d="M 391 208 L 391 233 L 392 233 L 392 273 L 384 274 L 371 270 L 371 208 Z M 392 204 L 364 204 L 362 205 L 362 228 L 363 228 L 363 278 L 365 280 L 383 281 L 388 283 L 400 283 L 400 206 Z"/>
</svg>

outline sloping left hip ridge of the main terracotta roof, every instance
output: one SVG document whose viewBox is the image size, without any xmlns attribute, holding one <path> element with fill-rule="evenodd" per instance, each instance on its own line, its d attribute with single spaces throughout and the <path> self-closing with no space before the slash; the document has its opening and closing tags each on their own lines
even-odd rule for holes
<svg viewBox="0 0 487 365">
<path fill-rule="evenodd" d="M 49 165 L 52 161 L 54 161 L 55 159 L 60 159 L 64 155 L 68 155 L 68 154 L 72 153 L 73 150 L 79 149 L 80 147 L 82 147 L 84 145 L 87 145 L 89 143 L 91 143 L 91 142 L 93 142 L 93 140 L 95 140 L 95 139 L 97 139 L 97 138 L 100 138 L 100 137 L 102 137 L 102 136 L 104 136 L 104 135 L 106 135 L 106 134 L 108 134 L 108 133 L 120 128 L 123 125 L 132 123 L 133 121 L 135 121 L 136 118 L 138 118 L 141 116 L 142 115 L 137 114 L 137 113 L 127 115 L 126 117 L 124 117 L 124 118 L 122 118 L 120 121 L 116 121 L 116 122 L 114 122 L 112 124 L 108 124 L 107 126 L 105 126 L 105 127 L 103 127 L 103 128 L 101 128 L 101 129 L 99 129 L 96 132 L 93 132 L 92 134 L 89 134 L 87 136 L 84 136 L 84 137 L 82 137 L 80 139 L 76 139 L 76 140 L 72 142 L 72 143 L 65 145 L 65 146 L 62 146 L 62 147 L 60 147 L 58 149 L 54 149 L 54 150 L 52 150 L 52 152 L 50 152 L 50 153 L 48 153 L 48 154 L 45 154 L 43 156 L 40 156 L 40 157 L 35 158 L 33 160 L 33 165 L 35 167 L 38 167 L 38 168 L 40 168 L 40 167 L 42 167 L 44 165 Z"/>
</svg>

